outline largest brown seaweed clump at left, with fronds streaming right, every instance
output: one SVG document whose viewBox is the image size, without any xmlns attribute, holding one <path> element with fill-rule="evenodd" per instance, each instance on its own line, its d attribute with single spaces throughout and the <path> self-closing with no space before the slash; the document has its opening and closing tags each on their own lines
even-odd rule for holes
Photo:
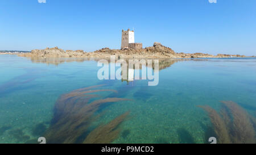
<svg viewBox="0 0 256 155">
<path fill-rule="evenodd" d="M 115 90 L 90 90 L 102 85 L 85 87 L 61 95 L 54 108 L 54 116 L 50 127 L 46 131 L 47 143 L 76 143 L 80 136 L 88 132 L 88 128 L 101 116 L 96 115 L 99 107 L 105 103 L 128 100 L 124 98 L 98 99 L 89 103 L 89 100 L 98 95 L 90 94 L 99 91 Z"/>
</svg>

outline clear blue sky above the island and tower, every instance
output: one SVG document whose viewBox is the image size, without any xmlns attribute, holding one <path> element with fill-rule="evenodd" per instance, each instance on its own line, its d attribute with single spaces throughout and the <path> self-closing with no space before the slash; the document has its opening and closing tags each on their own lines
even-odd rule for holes
<svg viewBox="0 0 256 155">
<path fill-rule="evenodd" d="M 255 0 L 0 1 L 0 50 L 117 49 L 133 27 L 143 47 L 256 55 Z"/>
</svg>

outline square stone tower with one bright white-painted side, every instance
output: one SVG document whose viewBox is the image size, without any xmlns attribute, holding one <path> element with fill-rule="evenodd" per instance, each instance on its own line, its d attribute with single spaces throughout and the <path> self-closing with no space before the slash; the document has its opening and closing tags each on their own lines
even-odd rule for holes
<svg viewBox="0 0 256 155">
<path fill-rule="evenodd" d="M 122 30 L 121 49 L 129 48 L 130 43 L 134 43 L 134 31 L 130 31 L 130 29 L 127 31 Z"/>
</svg>

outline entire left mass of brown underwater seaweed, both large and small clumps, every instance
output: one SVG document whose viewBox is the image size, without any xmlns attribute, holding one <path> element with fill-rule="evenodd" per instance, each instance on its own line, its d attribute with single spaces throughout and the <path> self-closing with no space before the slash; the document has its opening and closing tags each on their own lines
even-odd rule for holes
<svg viewBox="0 0 256 155">
<path fill-rule="evenodd" d="M 115 90 L 91 90 L 100 86 L 102 85 L 77 89 L 62 95 L 57 100 L 51 125 L 44 136 L 47 143 L 112 143 L 117 139 L 121 132 L 120 124 L 126 120 L 129 112 L 125 112 L 107 124 L 98 125 L 92 131 L 89 129 L 92 123 L 102 115 L 102 112 L 96 114 L 102 104 L 128 100 L 106 98 L 89 103 L 90 99 L 98 97 L 98 95 L 89 93 L 99 91 L 117 93 Z"/>
</svg>

